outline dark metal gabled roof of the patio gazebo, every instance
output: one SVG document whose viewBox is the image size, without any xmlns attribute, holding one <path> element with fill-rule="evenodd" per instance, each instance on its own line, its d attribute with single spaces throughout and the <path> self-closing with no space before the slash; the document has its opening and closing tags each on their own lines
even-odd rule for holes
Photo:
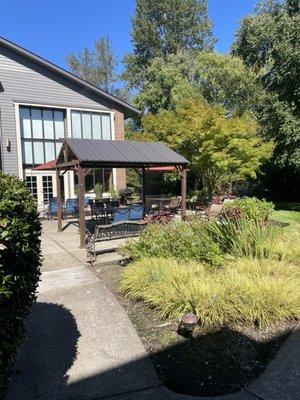
<svg viewBox="0 0 300 400">
<path fill-rule="evenodd" d="M 67 138 L 68 162 L 80 161 L 83 167 L 151 167 L 187 165 L 188 160 L 161 142 L 130 142 Z M 60 151 L 57 166 L 63 164 Z"/>
</svg>

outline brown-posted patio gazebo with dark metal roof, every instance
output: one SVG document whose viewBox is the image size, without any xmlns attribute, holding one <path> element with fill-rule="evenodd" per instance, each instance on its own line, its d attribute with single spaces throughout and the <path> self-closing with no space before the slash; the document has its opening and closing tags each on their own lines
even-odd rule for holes
<svg viewBox="0 0 300 400">
<path fill-rule="evenodd" d="M 94 168 L 134 168 L 142 176 L 142 199 L 145 204 L 145 172 L 153 167 L 175 167 L 181 174 L 181 218 L 186 215 L 188 161 L 160 142 L 129 142 L 93 139 L 65 139 L 57 158 L 57 224 L 62 231 L 61 177 L 72 169 L 78 176 L 80 247 L 85 245 L 85 176 Z"/>
</svg>

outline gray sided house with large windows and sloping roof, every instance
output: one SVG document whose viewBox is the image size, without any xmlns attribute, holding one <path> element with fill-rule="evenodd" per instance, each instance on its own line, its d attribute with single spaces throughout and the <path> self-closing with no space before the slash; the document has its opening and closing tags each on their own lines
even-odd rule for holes
<svg viewBox="0 0 300 400">
<path fill-rule="evenodd" d="M 124 140 L 130 104 L 0 37 L 0 169 L 25 180 L 39 204 L 56 196 L 54 169 L 33 168 L 55 159 L 63 138 Z M 51 163 L 50 163 L 51 166 Z M 64 176 L 65 198 L 75 196 L 76 176 Z M 87 192 L 126 185 L 122 169 L 95 169 Z"/>
</svg>

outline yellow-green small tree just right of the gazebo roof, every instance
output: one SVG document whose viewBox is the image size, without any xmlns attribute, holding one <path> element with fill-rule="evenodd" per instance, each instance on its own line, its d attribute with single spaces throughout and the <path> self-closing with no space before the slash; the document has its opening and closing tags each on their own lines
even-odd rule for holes
<svg viewBox="0 0 300 400">
<path fill-rule="evenodd" d="M 148 115 L 142 128 L 144 139 L 163 141 L 190 161 L 192 173 L 210 197 L 217 185 L 255 179 L 273 149 L 257 134 L 253 119 L 229 118 L 222 108 L 204 100 L 186 100 L 175 110 Z"/>
</svg>

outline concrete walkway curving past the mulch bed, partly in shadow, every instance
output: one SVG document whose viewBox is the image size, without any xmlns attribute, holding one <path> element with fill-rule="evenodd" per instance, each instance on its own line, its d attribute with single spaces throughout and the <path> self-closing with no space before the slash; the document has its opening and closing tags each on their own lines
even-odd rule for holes
<svg viewBox="0 0 300 400">
<path fill-rule="evenodd" d="M 123 308 L 83 265 L 77 228 L 58 234 L 54 222 L 45 222 L 42 245 L 38 302 L 6 400 L 195 399 L 159 383 Z M 298 399 L 299 353 L 297 331 L 247 391 L 209 399 Z"/>
</svg>

